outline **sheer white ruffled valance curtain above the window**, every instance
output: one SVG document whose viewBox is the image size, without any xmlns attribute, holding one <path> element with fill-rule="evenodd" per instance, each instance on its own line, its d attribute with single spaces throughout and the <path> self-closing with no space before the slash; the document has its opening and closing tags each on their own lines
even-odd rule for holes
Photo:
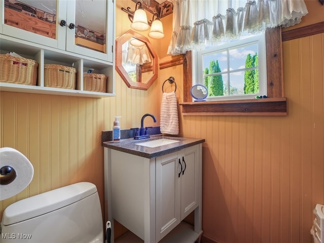
<svg viewBox="0 0 324 243">
<path fill-rule="evenodd" d="M 169 0 L 173 32 L 168 55 L 184 54 L 264 31 L 288 27 L 308 13 L 303 0 Z"/>
</svg>

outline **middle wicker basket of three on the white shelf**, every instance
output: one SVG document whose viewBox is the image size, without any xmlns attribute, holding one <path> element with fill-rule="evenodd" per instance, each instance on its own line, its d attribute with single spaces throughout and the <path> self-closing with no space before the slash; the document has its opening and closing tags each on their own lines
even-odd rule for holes
<svg viewBox="0 0 324 243">
<path fill-rule="evenodd" d="M 44 86 L 75 90 L 75 73 L 73 67 L 56 64 L 44 65 Z"/>
</svg>

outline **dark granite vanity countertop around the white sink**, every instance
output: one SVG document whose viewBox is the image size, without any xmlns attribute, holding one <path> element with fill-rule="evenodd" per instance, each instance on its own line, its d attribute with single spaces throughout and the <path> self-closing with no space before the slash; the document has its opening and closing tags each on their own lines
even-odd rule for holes
<svg viewBox="0 0 324 243">
<path fill-rule="evenodd" d="M 177 140 L 179 142 L 171 143 L 158 147 L 146 147 L 142 145 L 137 145 L 137 143 L 147 142 L 151 140 L 157 140 L 161 137 L 165 139 Z M 162 155 L 166 155 L 169 153 L 173 153 L 179 151 L 183 148 L 190 147 L 199 143 L 204 143 L 205 139 L 197 139 L 197 138 L 185 138 L 185 137 L 170 137 L 170 136 L 162 136 L 153 135 L 147 139 L 135 140 L 133 138 L 121 139 L 119 143 L 102 142 L 102 146 L 115 149 L 121 152 L 126 152 L 134 155 L 138 155 L 145 158 L 155 158 Z"/>
</svg>

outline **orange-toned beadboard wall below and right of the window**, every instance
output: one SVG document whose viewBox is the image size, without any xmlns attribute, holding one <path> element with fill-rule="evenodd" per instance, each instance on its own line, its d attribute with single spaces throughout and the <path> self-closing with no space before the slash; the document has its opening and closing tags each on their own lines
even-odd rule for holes
<svg viewBox="0 0 324 243">
<path fill-rule="evenodd" d="M 206 139 L 205 240 L 312 240 L 312 210 L 324 204 L 324 33 L 283 50 L 287 116 L 182 117 L 184 136 Z"/>
</svg>

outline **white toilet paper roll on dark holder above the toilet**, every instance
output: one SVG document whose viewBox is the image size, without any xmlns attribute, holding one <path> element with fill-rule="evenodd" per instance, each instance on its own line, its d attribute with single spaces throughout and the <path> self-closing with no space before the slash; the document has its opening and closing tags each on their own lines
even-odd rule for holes
<svg viewBox="0 0 324 243">
<path fill-rule="evenodd" d="M 0 200 L 24 190 L 34 175 L 28 158 L 14 148 L 0 148 Z"/>
</svg>

